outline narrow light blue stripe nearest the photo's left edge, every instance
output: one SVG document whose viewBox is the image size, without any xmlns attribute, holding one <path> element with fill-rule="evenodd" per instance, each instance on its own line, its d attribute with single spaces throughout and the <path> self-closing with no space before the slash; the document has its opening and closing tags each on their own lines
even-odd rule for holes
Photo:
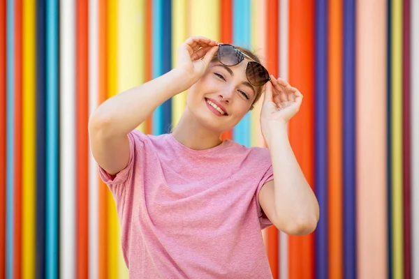
<svg viewBox="0 0 419 279">
<path fill-rule="evenodd" d="M 7 1 L 6 278 L 13 279 L 15 204 L 15 1 Z"/>
</svg>

